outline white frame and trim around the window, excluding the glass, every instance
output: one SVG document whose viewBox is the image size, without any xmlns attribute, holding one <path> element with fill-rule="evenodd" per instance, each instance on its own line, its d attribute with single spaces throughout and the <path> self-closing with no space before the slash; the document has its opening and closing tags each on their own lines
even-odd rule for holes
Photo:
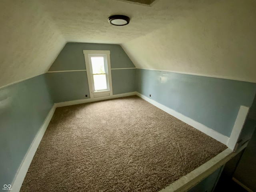
<svg viewBox="0 0 256 192">
<path fill-rule="evenodd" d="M 83 50 L 84 60 L 86 64 L 86 73 L 89 84 L 90 98 L 112 96 L 112 76 L 111 76 L 111 65 L 110 65 L 110 51 L 109 50 Z M 105 67 L 106 67 L 106 77 L 107 77 L 107 89 L 102 91 L 94 91 L 93 84 L 93 74 L 92 74 L 92 64 L 91 56 L 102 56 L 104 57 Z"/>
</svg>

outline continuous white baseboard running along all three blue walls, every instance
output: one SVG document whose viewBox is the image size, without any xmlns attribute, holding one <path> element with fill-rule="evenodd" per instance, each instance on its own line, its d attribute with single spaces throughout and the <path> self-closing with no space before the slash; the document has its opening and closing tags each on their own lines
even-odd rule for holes
<svg viewBox="0 0 256 192">
<path fill-rule="evenodd" d="M 204 132 L 205 134 L 211 136 L 212 138 L 222 142 L 223 144 L 227 144 L 229 138 L 227 136 L 224 136 L 154 100 L 151 100 L 150 98 L 138 93 L 138 92 L 129 92 L 129 93 L 124 93 L 124 94 L 116 94 L 112 96 L 105 96 L 105 97 L 100 97 L 100 98 L 92 98 L 92 99 L 82 99 L 82 100 L 73 100 L 73 101 L 68 101 L 68 102 L 60 102 L 56 103 L 52 106 L 52 109 L 50 110 L 48 116 L 44 120 L 43 125 L 41 126 L 40 130 L 36 134 L 36 137 L 34 138 L 32 144 L 30 145 L 30 148 L 28 149 L 28 152 L 26 153 L 20 168 L 18 169 L 16 176 L 12 182 L 12 191 L 13 192 L 19 192 L 20 187 L 22 186 L 22 182 L 26 176 L 26 173 L 28 171 L 28 168 L 30 166 L 30 163 L 32 162 L 32 159 L 34 157 L 34 154 L 36 153 L 36 150 L 44 136 L 44 132 L 46 131 L 46 128 L 48 127 L 48 124 L 50 123 L 50 120 L 52 119 L 52 116 L 54 114 L 54 111 L 56 107 L 62 107 L 62 106 L 70 106 L 70 105 L 75 105 L 75 104 L 82 104 L 82 103 L 87 103 L 87 102 L 95 102 L 95 101 L 100 101 L 100 100 L 108 100 L 108 99 L 113 99 L 113 98 L 120 98 L 120 97 L 125 97 L 125 96 L 132 96 L 132 95 L 137 95 L 140 98 L 146 100 L 147 102 L 153 104 L 154 106 L 160 108 L 161 110 L 167 112 L 168 114 L 182 120 L 183 122 L 189 124 L 190 126 L 193 126 L 194 128 L 200 130 L 201 132 Z"/>
</svg>

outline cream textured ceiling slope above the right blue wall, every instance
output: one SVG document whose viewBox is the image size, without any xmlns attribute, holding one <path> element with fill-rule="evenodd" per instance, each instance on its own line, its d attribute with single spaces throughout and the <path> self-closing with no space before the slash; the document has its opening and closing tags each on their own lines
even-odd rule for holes
<svg viewBox="0 0 256 192">
<path fill-rule="evenodd" d="M 137 68 L 256 82 L 255 10 L 254 0 L 223 0 L 122 47 Z"/>
</svg>

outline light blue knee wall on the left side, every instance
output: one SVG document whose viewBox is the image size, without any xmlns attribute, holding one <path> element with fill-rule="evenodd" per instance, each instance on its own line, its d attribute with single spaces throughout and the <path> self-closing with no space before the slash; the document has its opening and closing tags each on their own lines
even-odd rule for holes
<svg viewBox="0 0 256 192">
<path fill-rule="evenodd" d="M 0 186 L 12 184 L 52 105 L 45 75 L 0 89 Z"/>
</svg>

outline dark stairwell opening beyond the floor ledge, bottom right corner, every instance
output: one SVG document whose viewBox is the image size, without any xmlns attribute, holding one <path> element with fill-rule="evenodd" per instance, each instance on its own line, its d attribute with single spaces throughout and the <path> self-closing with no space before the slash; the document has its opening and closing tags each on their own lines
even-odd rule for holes
<svg viewBox="0 0 256 192">
<path fill-rule="evenodd" d="M 240 191 L 246 192 L 234 179 L 252 191 L 256 191 L 256 96 L 246 118 L 243 130 L 239 137 L 239 146 L 248 142 L 247 147 L 225 164 L 215 192 L 218 191 Z"/>
</svg>

